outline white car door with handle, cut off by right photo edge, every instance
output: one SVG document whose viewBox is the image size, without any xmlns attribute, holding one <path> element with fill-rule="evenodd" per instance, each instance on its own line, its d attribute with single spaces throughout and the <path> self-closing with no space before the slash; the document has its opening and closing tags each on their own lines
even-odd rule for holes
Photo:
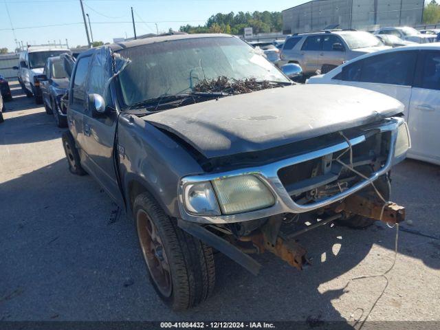
<svg viewBox="0 0 440 330">
<path fill-rule="evenodd" d="M 408 156 L 440 164 L 440 51 L 421 51 L 416 72 L 408 113 Z"/>
</svg>

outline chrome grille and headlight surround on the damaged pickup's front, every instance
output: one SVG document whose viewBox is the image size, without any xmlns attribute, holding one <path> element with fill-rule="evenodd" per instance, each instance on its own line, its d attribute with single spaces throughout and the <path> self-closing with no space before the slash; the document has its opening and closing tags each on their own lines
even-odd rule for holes
<svg viewBox="0 0 440 330">
<path fill-rule="evenodd" d="M 329 146 L 327 148 L 321 148 L 316 151 L 312 151 L 310 153 L 306 153 L 303 155 L 297 155 L 294 157 L 290 157 L 288 159 L 283 159 L 278 162 L 274 162 L 272 164 L 265 164 L 262 166 L 243 168 L 239 170 L 231 170 L 225 173 L 212 173 L 208 175 L 192 175 L 190 177 L 184 177 L 181 180 L 181 184 L 179 185 L 179 210 L 181 214 L 181 219 L 186 221 L 196 222 L 196 223 L 234 223 L 241 221 L 248 221 L 253 219 L 261 219 L 264 217 L 270 217 L 276 214 L 282 213 L 303 213 L 309 212 L 311 210 L 316 210 L 318 208 L 324 208 L 329 206 L 336 201 L 340 201 L 344 198 L 353 195 L 355 192 L 362 190 L 366 186 L 369 186 L 373 181 L 379 178 L 381 175 L 388 173 L 393 165 L 394 151 L 395 151 L 395 142 L 397 139 L 397 129 L 401 124 L 404 124 L 404 120 L 402 118 L 391 118 L 388 120 L 384 120 L 380 124 L 371 124 L 363 128 L 364 131 L 369 131 L 373 129 L 379 130 L 381 133 L 390 132 L 391 138 L 388 146 L 388 156 L 384 163 L 384 166 L 377 170 L 374 173 L 358 184 L 354 184 L 347 190 L 343 190 L 336 195 L 332 195 L 327 198 L 320 199 L 315 201 L 314 203 L 307 204 L 299 204 L 296 203 L 283 183 L 281 179 L 278 177 L 278 170 L 281 168 L 285 168 L 287 166 L 292 166 L 294 164 L 299 164 L 302 162 L 307 162 L 311 159 L 316 159 L 319 157 L 324 157 L 326 155 L 331 155 L 332 153 L 337 153 L 338 151 L 343 151 L 344 149 L 349 148 L 351 146 L 355 146 L 362 142 L 366 141 L 366 133 L 359 135 L 357 137 L 353 137 L 349 140 L 350 144 L 347 141 L 341 142 L 339 144 Z M 263 181 L 268 188 L 272 191 L 274 196 L 276 197 L 276 203 L 274 206 L 270 208 L 265 208 L 262 210 L 255 210 L 252 212 L 244 212 L 240 214 L 232 214 L 232 215 L 221 215 L 221 216 L 209 216 L 209 215 L 200 215 L 200 214 L 191 214 L 184 207 L 184 199 L 183 199 L 183 191 L 184 186 L 186 184 L 201 182 L 201 181 L 211 181 L 213 179 L 217 179 L 219 177 L 232 177 L 236 175 L 255 175 L 259 177 L 261 181 Z"/>
</svg>

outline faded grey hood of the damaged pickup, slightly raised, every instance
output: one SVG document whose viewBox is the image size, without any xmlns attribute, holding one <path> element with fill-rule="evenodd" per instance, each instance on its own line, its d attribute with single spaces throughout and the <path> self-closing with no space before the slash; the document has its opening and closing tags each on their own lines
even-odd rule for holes
<svg viewBox="0 0 440 330">
<path fill-rule="evenodd" d="M 212 158 L 262 151 L 403 111 L 401 102 L 375 91 L 292 85 L 191 104 L 143 119 Z"/>
</svg>

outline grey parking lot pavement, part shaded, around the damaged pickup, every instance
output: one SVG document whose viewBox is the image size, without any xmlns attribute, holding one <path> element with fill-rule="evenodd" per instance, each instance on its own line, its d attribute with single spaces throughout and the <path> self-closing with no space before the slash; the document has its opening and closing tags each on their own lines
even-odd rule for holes
<svg viewBox="0 0 440 330">
<path fill-rule="evenodd" d="M 173 312 L 155 294 L 132 219 L 90 176 L 69 173 L 62 130 L 12 83 L 0 124 L 0 320 L 353 320 L 385 286 L 395 228 L 322 226 L 300 236 L 312 265 L 256 256 L 259 276 L 216 254 L 214 296 Z M 392 173 L 406 207 L 399 253 L 369 320 L 440 320 L 440 167 Z M 437 239 L 436 239 L 437 237 Z M 347 285 L 348 283 L 348 285 Z"/>
</svg>

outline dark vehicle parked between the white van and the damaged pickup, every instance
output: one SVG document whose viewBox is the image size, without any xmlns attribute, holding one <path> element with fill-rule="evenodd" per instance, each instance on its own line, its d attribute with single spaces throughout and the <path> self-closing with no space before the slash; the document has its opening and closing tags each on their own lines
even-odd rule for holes
<svg viewBox="0 0 440 330">
<path fill-rule="evenodd" d="M 40 79 L 41 95 L 47 114 L 53 114 L 58 127 L 67 127 L 66 110 L 61 98 L 67 93 L 69 87 L 69 70 L 65 65 L 73 67 L 75 58 L 69 54 L 47 58 Z M 70 70 L 70 72 L 72 72 Z"/>
</svg>

